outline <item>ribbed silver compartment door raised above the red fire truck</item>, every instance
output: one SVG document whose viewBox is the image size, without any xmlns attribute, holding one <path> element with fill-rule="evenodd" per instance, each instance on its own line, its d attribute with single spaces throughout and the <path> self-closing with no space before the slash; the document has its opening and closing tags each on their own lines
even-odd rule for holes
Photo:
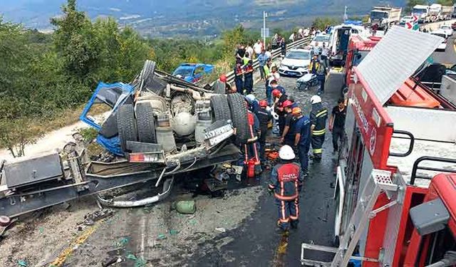
<svg viewBox="0 0 456 267">
<path fill-rule="evenodd" d="M 442 41 L 438 36 L 393 26 L 358 65 L 358 71 L 383 105 Z"/>
</svg>

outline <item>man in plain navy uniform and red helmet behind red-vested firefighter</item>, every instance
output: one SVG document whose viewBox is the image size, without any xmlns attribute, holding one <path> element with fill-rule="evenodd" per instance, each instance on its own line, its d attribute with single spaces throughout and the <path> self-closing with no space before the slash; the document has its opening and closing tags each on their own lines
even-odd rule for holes
<svg viewBox="0 0 456 267">
<path fill-rule="evenodd" d="M 301 108 L 293 108 L 291 114 L 296 117 L 294 126 L 294 147 L 298 150 L 299 162 L 301 163 L 304 177 L 307 176 L 309 167 L 309 149 L 311 146 L 311 120 L 309 116 L 303 115 Z"/>
</svg>

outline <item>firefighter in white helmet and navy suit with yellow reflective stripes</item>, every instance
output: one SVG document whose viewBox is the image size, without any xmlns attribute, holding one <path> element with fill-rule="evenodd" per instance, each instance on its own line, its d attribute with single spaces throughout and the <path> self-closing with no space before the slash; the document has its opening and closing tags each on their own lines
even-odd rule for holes
<svg viewBox="0 0 456 267">
<path fill-rule="evenodd" d="M 321 104 L 321 98 L 318 95 L 311 97 L 311 144 L 314 152 L 314 160 L 321 161 L 323 152 L 323 142 L 325 141 L 326 119 L 328 119 L 328 110 Z"/>
</svg>

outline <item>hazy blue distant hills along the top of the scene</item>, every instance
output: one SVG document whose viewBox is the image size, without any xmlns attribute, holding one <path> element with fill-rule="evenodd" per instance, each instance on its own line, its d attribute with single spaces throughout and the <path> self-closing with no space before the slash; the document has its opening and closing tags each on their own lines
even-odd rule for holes
<svg viewBox="0 0 456 267">
<path fill-rule="evenodd" d="M 49 19 L 61 14 L 65 0 L 1 0 L 0 14 L 26 27 L 49 29 Z M 269 11 L 271 28 L 308 23 L 315 16 L 367 14 L 374 5 L 403 6 L 405 0 L 79 0 L 90 18 L 113 16 L 145 35 L 208 36 L 237 23 L 259 26 Z M 287 22 L 288 21 L 288 22 Z"/>
</svg>

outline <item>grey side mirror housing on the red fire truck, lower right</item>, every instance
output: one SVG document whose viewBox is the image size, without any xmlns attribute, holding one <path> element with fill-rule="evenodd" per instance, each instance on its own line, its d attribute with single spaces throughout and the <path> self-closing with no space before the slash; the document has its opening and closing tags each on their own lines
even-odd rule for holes
<svg viewBox="0 0 456 267">
<path fill-rule="evenodd" d="M 442 199 L 437 198 L 410 209 L 410 219 L 418 234 L 424 236 L 444 229 L 450 214 Z"/>
</svg>

